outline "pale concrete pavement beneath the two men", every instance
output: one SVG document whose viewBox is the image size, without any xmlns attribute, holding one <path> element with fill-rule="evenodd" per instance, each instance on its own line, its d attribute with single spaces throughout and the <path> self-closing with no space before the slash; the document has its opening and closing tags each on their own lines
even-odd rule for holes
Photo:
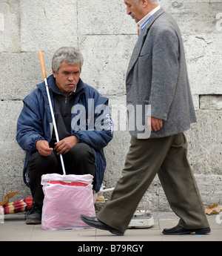
<svg viewBox="0 0 222 256">
<path fill-rule="evenodd" d="M 124 236 L 119 237 L 98 229 L 71 229 L 45 231 L 41 225 L 26 225 L 24 214 L 4 215 L 4 223 L 0 223 L 0 241 L 222 241 L 222 216 L 207 216 L 212 232 L 197 235 L 164 235 L 164 228 L 172 228 L 178 223 L 173 212 L 153 212 L 154 225 L 149 229 L 127 229 Z M 218 216 L 218 217 L 217 217 Z M 2 222 L 2 221 L 1 221 Z"/>
</svg>

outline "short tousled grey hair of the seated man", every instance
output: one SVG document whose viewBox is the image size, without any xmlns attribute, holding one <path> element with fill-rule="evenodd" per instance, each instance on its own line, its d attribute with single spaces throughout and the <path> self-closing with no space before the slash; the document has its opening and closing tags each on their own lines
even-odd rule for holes
<svg viewBox="0 0 222 256">
<path fill-rule="evenodd" d="M 75 47 L 61 47 L 55 51 L 52 61 L 52 68 L 55 73 L 58 73 L 58 69 L 61 68 L 61 62 L 64 61 L 68 65 L 80 64 L 80 69 L 83 65 L 84 58 L 82 53 Z"/>
</svg>

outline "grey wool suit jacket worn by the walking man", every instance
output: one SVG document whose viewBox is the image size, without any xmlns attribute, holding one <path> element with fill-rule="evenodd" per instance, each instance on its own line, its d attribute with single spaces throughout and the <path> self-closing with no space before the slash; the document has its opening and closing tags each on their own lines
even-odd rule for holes
<svg viewBox="0 0 222 256">
<path fill-rule="evenodd" d="M 162 8 L 152 16 L 136 42 L 126 86 L 132 137 L 166 137 L 186 131 L 196 122 L 181 33 L 172 16 Z M 149 131 L 149 136 L 139 125 L 147 122 L 146 105 L 151 105 L 151 116 L 164 120 L 163 128 L 151 134 Z"/>
</svg>

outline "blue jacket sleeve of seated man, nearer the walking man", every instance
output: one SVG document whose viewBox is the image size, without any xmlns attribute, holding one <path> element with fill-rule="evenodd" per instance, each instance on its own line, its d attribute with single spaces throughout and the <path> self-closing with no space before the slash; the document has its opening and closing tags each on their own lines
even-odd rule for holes
<svg viewBox="0 0 222 256">
<path fill-rule="evenodd" d="M 87 129 L 74 128 L 73 135 L 78 137 L 78 142 L 86 143 L 95 151 L 100 151 L 112 140 L 113 123 L 107 102 L 96 105 L 93 112 L 94 118 L 88 119 Z"/>
</svg>

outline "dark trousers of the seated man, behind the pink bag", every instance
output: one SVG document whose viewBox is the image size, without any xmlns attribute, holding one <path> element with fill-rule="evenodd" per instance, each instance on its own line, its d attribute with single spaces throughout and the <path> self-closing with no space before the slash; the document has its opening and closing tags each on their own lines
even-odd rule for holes
<svg viewBox="0 0 222 256">
<path fill-rule="evenodd" d="M 66 174 L 91 174 L 95 177 L 95 155 L 89 145 L 76 144 L 67 154 L 63 155 L 63 159 Z M 63 174 L 60 157 L 55 151 L 49 157 L 43 157 L 38 152 L 30 157 L 30 189 L 33 201 L 40 207 L 42 207 L 44 200 L 41 175 L 55 173 Z"/>
</svg>

